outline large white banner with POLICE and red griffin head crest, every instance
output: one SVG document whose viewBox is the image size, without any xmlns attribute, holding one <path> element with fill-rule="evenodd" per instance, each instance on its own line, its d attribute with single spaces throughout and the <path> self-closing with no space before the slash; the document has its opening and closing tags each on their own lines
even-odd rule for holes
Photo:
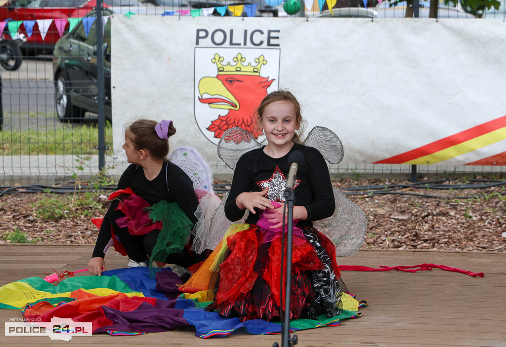
<svg viewBox="0 0 506 347">
<path fill-rule="evenodd" d="M 306 133 L 342 139 L 343 163 L 506 165 L 502 21 L 115 16 L 111 28 L 122 158 L 125 123 L 151 118 L 174 121 L 172 148 L 221 162 L 221 132 L 288 88 Z"/>
</svg>

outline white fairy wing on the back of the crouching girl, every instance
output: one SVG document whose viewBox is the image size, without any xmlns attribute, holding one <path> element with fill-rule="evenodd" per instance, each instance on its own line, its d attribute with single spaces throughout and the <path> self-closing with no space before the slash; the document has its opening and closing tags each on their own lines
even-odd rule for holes
<svg viewBox="0 0 506 347">
<path fill-rule="evenodd" d="M 169 157 L 170 161 L 190 177 L 195 190 L 202 189 L 214 193 L 213 174 L 202 155 L 192 146 L 179 146 Z"/>
</svg>

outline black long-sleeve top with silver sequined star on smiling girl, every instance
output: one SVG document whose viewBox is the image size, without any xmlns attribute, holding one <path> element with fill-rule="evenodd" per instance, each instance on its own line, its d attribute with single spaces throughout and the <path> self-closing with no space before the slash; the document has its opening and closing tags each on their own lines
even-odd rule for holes
<svg viewBox="0 0 506 347">
<path fill-rule="evenodd" d="M 284 201 L 282 191 L 284 191 L 285 181 L 283 182 L 282 176 L 280 178 L 279 173 L 275 172 L 275 168 L 277 166 L 287 178 L 291 165 L 288 163 L 288 156 L 293 151 L 301 151 L 305 159 L 303 165 L 299 164 L 297 172 L 297 180 L 300 182 L 294 188 L 294 205 L 304 206 L 308 212 L 307 220 L 299 221 L 297 226 L 301 228 L 312 226 L 311 221 L 330 217 L 334 213 L 334 193 L 325 159 L 316 148 L 294 143 L 290 152 L 281 158 L 269 157 L 264 153 L 264 147 L 249 151 L 239 158 L 225 204 L 225 216 L 230 221 L 239 220 L 245 212 L 245 209 L 237 207 L 235 203 L 237 196 L 242 192 L 264 190 L 259 185 L 261 181 L 272 178 L 268 184 L 274 184 L 276 189 L 269 188 L 268 199 Z M 282 184 L 281 187 L 279 187 L 280 184 Z M 254 224 L 258 221 L 261 210 L 255 211 L 256 214 L 249 213 L 246 223 Z"/>
</svg>

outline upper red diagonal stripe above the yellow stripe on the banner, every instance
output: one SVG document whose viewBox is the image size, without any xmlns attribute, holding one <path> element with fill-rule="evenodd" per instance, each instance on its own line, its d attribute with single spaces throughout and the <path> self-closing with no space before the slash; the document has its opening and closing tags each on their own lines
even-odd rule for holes
<svg viewBox="0 0 506 347">
<path fill-rule="evenodd" d="M 477 125 L 473 128 L 458 132 L 440 140 L 431 142 L 424 146 L 415 148 L 414 150 L 404 152 L 397 156 L 393 156 L 384 160 L 374 162 L 372 164 L 402 164 L 420 157 L 442 151 L 448 147 L 471 140 L 475 137 L 484 135 L 491 131 L 506 127 L 506 116 L 499 117 L 489 122 Z"/>
</svg>

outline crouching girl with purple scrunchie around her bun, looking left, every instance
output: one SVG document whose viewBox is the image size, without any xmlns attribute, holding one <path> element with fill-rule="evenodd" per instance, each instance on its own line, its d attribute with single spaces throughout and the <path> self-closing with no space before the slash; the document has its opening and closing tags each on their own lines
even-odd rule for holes
<svg viewBox="0 0 506 347">
<path fill-rule="evenodd" d="M 89 272 L 101 275 L 110 240 L 117 252 L 128 255 L 128 267 L 152 266 L 153 261 L 188 267 L 200 259 L 190 251 L 190 232 L 199 204 L 193 183 L 167 160 L 168 138 L 176 133 L 172 121 L 141 119 L 125 130 L 130 166 L 100 226 Z"/>
</svg>

